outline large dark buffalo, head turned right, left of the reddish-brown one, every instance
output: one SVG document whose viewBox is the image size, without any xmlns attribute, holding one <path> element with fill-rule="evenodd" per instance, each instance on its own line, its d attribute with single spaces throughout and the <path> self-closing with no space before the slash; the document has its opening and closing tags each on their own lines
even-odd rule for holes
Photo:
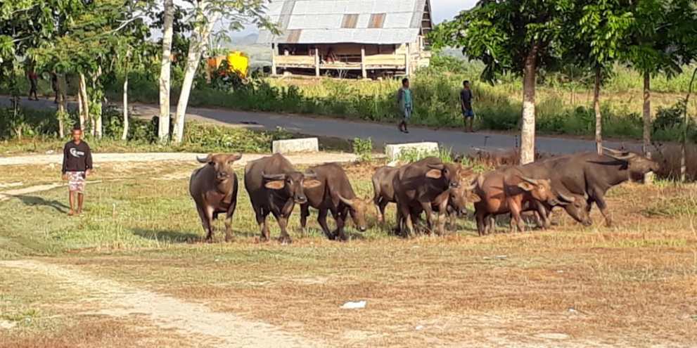
<svg viewBox="0 0 697 348">
<path fill-rule="evenodd" d="M 443 163 L 437 157 L 426 157 L 404 165 L 392 180 L 397 200 L 397 228 L 409 236 L 414 231 L 412 212 L 426 212 L 429 230 L 433 230 L 433 202 L 448 188 L 459 186 L 460 179 L 470 173 L 454 163 Z M 404 228 L 402 228 L 404 226 Z"/>
</svg>

